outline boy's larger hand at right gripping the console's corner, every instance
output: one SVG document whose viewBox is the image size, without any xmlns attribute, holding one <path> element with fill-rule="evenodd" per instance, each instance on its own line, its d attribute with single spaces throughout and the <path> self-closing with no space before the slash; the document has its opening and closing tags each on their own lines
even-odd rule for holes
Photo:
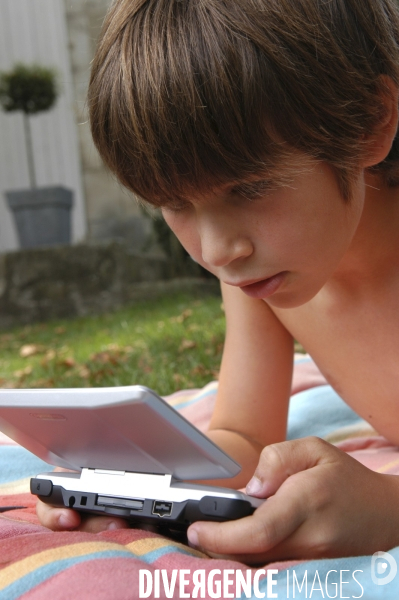
<svg viewBox="0 0 399 600">
<path fill-rule="evenodd" d="M 372 554 L 399 541 L 399 477 L 370 471 L 319 438 L 267 446 L 247 493 L 268 500 L 250 517 L 194 523 L 191 545 L 264 564 Z"/>
</svg>

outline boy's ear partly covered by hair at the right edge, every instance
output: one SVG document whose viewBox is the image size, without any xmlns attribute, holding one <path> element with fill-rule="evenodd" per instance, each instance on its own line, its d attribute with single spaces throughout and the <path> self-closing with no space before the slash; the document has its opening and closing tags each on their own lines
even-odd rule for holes
<svg viewBox="0 0 399 600">
<path fill-rule="evenodd" d="M 387 75 L 379 77 L 382 116 L 374 132 L 366 136 L 369 146 L 363 167 L 373 167 L 386 159 L 398 130 L 399 88 Z"/>
</svg>

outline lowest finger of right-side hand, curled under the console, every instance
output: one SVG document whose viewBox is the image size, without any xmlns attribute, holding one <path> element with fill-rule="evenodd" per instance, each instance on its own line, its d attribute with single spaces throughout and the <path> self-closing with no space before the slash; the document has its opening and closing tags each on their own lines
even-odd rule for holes
<svg viewBox="0 0 399 600">
<path fill-rule="evenodd" d="M 250 517 L 226 523 L 197 522 L 187 536 L 192 546 L 212 554 L 262 555 L 289 538 L 306 516 L 306 502 L 294 494 L 272 497 Z"/>
</svg>

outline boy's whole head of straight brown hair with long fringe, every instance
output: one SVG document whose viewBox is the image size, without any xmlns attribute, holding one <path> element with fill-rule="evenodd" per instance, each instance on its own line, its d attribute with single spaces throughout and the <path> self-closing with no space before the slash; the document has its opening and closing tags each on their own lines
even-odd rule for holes
<svg viewBox="0 0 399 600">
<path fill-rule="evenodd" d="M 156 206 L 278 179 L 292 148 L 327 161 L 349 198 L 382 74 L 399 83 L 394 0 L 114 0 L 93 61 L 92 134 Z M 399 183 L 398 139 L 378 169 Z"/>
</svg>

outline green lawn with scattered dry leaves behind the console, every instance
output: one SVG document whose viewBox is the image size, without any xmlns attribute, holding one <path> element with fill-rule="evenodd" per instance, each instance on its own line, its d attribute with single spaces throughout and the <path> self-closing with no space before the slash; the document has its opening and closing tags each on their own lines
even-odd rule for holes
<svg viewBox="0 0 399 600">
<path fill-rule="evenodd" d="M 187 294 L 21 327 L 0 334 L 0 387 L 201 387 L 217 377 L 224 330 L 220 297 Z"/>
</svg>

